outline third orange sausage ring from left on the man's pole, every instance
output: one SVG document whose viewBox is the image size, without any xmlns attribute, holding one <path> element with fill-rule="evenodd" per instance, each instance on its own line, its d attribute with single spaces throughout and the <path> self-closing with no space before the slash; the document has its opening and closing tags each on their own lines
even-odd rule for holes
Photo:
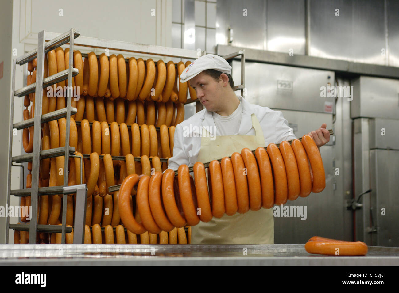
<svg viewBox="0 0 399 293">
<path fill-rule="evenodd" d="M 154 175 L 151 176 L 150 182 L 148 185 L 148 201 L 150 204 L 151 214 L 154 217 L 154 221 L 163 231 L 169 232 L 174 226 L 166 217 L 164 209 L 162 208 L 161 201 L 161 182 L 162 182 L 162 173 L 155 172 Z"/>
</svg>

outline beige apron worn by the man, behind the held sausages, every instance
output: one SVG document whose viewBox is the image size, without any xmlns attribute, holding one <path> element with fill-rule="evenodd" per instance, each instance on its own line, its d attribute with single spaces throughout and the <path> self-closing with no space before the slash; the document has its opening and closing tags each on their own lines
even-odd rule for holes
<svg viewBox="0 0 399 293">
<path fill-rule="evenodd" d="M 244 147 L 251 150 L 264 147 L 265 139 L 259 120 L 255 114 L 251 118 L 254 136 L 216 136 L 215 140 L 211 140 L 209 135 L 203 134 L 197 161 L 229 157 L 236 151 L 241 153 Z M 225 214 L 219 219 L 213 217 L 207 223 L 200 221 L 192 226 L 191 240 L 192 244 L 274 244 L 273 209 L 249 210 L 245 214 L 237 212 L 233 216 Z"/>
</svg>

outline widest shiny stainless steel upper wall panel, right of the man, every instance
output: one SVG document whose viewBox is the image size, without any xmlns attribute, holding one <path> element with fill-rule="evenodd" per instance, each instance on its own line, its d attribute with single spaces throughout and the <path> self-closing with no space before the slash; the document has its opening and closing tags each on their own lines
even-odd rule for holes
<svg viewBox="0 0 399 293">
<path fill-rule="evenodd" d="M 384 14 L 383 1 L 310 1 L 309 55 L 385 65 Z"/>
</svg>

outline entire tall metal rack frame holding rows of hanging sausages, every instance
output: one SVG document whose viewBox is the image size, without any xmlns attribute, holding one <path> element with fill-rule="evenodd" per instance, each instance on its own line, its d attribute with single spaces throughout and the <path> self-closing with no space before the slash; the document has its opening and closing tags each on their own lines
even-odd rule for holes
<svg viewBox="0 0 399 293">
<path fill-rule="evenodd" d="M 75 38 L 78 39 L 74 40 Z M 45 43 L 45 41 L 47 41 Z M 144 45 L 138 43 L 129 43 L 125 41 L 117 41 L 117 40 L 109 40 L 109 39 L 101 39 L 94 37 L 84 37 L 81 36 L 77 29 L 71 28 L 69 32 L 60 34 L 54 32 L 45 32 L 41 31 L 38 36 L 38 48 L 26 53 L 24 56 L 14 60 L 13 63 L 13 75 L 12 75 L 12 92 L 11 92 L 11 125 L 10 125 L 10 149 L 9 149 L 9 166 L 8 166 L 8 195 L 7 195 L 7 203 L 10 203 L 10 195 L 22 197 L 22 196 L 31 196 L 31 204 L 32 204 L 32 220 L 30 224 L 10 224 L 9 219 L 7 218 L 7 228 L 6 228 L 6 243 L 8 243 L 8 231 L 9 228 L 16 230 L 29 230 L 29 242 L 30 244 L 36 244 L 36 232 L 61 232 L 61 243 L 65 243 L 65 232 L 71 232 L 71 228 L 66 227 L 66 206 L 67 206 L 67 197 L 63 197 L 63 217 L 62 217 L 62 228 L 60 231 L 60 226 L 56 225 L 38 225 L 37 224 L 37 211 L 38 211 L 38 196 L 40 195 L 57 195 L 57 194 L 70 194 L 72 191 L 77 193 L 86 193 L 87 187 L 86 185 L 75 185 L 75 186 L 67 186 L 68 179 L 68 159 L 73 155 L 75 149 L 74 147 L 69 146 L 69 123 L 66 124 L 66 138 L 65 138 L 65 147 L 59 147 L 56 149 L 49 149 L 47 151 L 40 151 L 40 133 L 41 133 L 41 123 L 45 123 L 51 120 L 56 120 L 59 118 L 66 117 L 67 121 L 70 119 L 71 115 L 76 113 L 76 108 L 71 108 L 71 92 L 68 91 L 67 94 L 67 107 L 61 110 L 57 110 L 48 114 L 41 115 L 41 99 L 38 98 L 36 100 L 35 106 L 35 117 L 32 119 L 25 120 L 23 122 L 13 123 L 14 120 L 14 97 L 15 96 L 24 96 L 31 92 L 36 92 L 36 97 L 41 96 L 41 90 L 48 85 L 52 85 L 59 81 L 63 81 L 68 79 L 68 88 L 72 87 L 72 77 L 78 74 L 78 70 L 73 68 L 72 66 L 69 69 L 65 69 L 62 72 L 59 72 L 51 77 L 47 77 L 43 79 L 43 67 L 44 67 L 44 54 L 56 47 L 59 47 L 63 44 L 69 43 L 69 51 L 73 52 L 73 46 L 83 46 L 83 47 L 94 47 L 99 49 L 109 49 L 109 50 L 117 50 L 117 51 L 126 51 L 131 53 L 142 53 L 149 55 L 158 55 L 158 56 L 168 56 L 168 57 L 176 57 L 182 59 L 197 59 L 202 55 L 205 55 L 205 51 L 201 51 L 201 54 L 198 54 L 196 50 L 188 50 L 188 49 L 180 49 L 180 48 L 172 48 L 172 47 L 163 47 L 156 45 Z M 84 55 L 84 53 L 82 54 Z M 19 90 L 14 91 L 15 87 L 15 67 L 16 64 L 23 65 L 34 58 L 38 57 L 38 69 L 36 74 L 36 84 L 29 85 L 27 87 L 20 88 Z M 241 90 L 241 95 L 243 96 L 244 89 L 244 69 L 245 69 L 245 50 L 240 50 L 236 53 L 232 53 L 226 56 L 223 56 L 226 60 L 241 56 L 241 84 L 235 87 L 235 90 Z M 69 64 L 73 64 L 73 54 L 69 55 Z M 42 85 L 42 87 L 40 87 Z M 197 103 L 198 106 L 201 106 L 199 100 L 187 100 L 185 104 L 189 104 L 192 102 Z M 30 126 L 34 126 L 34 149 L 30 154 L 19 155 L 16 157 L 12 157 L 12 131 L 13 128 L 22 129 Z M 39 180 L 39 166 L 40 159 L 49 158 L 49 157 L 57 157 L 60 155 L 65 156 L 65 167 L 64 167 L 64 186 L 54 186 L 54 187 L 38 187 Z M 87 155 L 83 155 L 84 158 Z M 113 160 L 124 160 L 124 157 L 112 157 Z M 135 158 L 138 160 L 139 158 Z M 10 190 L 11 185 L 11 166 L 12 162 L 27 162 L 32 161 L 32 188 L 30 189 L 17 189 Z M 161 162 L 167 161 L 166 159 L 161 159 Z M 77 199 L 80 198 L 77 194 Z M 82 201 L 79 203 L 80 207 L 85 207 L 86 204 L 86 196 L 81 196 Z M 76 202 L 76 208 L 78 208 L 78 201 Z M 83 243 L 83 234 L 84 234 L 84 218 L 85 218 L 85 208 L 80 208 L 79 213 L 75 210 L 75 228 L 74 228 L 74 243 Z M 77 219 L 79 216 L 79 219 Z M 81 227 L 82 226 L 82 227 Z M 75 237 L 77 236 L 80 242 L 75 242 Z"/>
</svg>

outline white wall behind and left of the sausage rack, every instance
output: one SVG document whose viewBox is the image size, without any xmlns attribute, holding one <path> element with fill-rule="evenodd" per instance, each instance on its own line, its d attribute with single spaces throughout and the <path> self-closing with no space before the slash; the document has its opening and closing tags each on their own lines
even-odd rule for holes
<svg viewBox="0 0 399 293">
<path fill-rule="evenodd" d="M 60 9 L 63 16 L 60 16 Z M 152 12 L 155 12 L 155 16 L 151 15 L 154 14 Z M 0 128 L 0 205 L 4 206 L 8 178 L 12 58 L 36 48 L 40 31 L 64 33 L 71 27 L 79 29 L 82 36 L 171 47 L 172 0 L 2 0 L 0 17 L 0 63 L 4 60 L 4 77 L 0 79 L 0 117 L 7 125 Z M 69 45 L 63 45 L 65 47 Z M 14 48 L 18 52 L 16 57 L 12 56 Z M 89 47 L 77 49 L 82 52 L 95 51 L 97 54 L 103 52 L 103 49 Z M 127 52 L 118 53 L 125 57 L 134 56 Z M 26 85 L 26 74 L 26 65 L 17 65 L 16 89 Z M 14 101 L 14 122 L 18 122 L 22 120 L 23 98 L 15 98 Z M 23 153 L 21 138 L 22 130 L 13 138 L 13 156 Z M 20 177 L 20 168 L 12 167 L 11 189 L 23 188 Z M 11 205 L 18 204 L 19 199 L 12 196 Z M 10 223 L 16 223 L 17 220 L 11 218 Z M 5 225 L 6 219 L 0 217 L 0 243 L 5 242 Z M 14 232 L 10 230 L 9 243 L 13 243 L 13 236 Z"/>
</svg>

